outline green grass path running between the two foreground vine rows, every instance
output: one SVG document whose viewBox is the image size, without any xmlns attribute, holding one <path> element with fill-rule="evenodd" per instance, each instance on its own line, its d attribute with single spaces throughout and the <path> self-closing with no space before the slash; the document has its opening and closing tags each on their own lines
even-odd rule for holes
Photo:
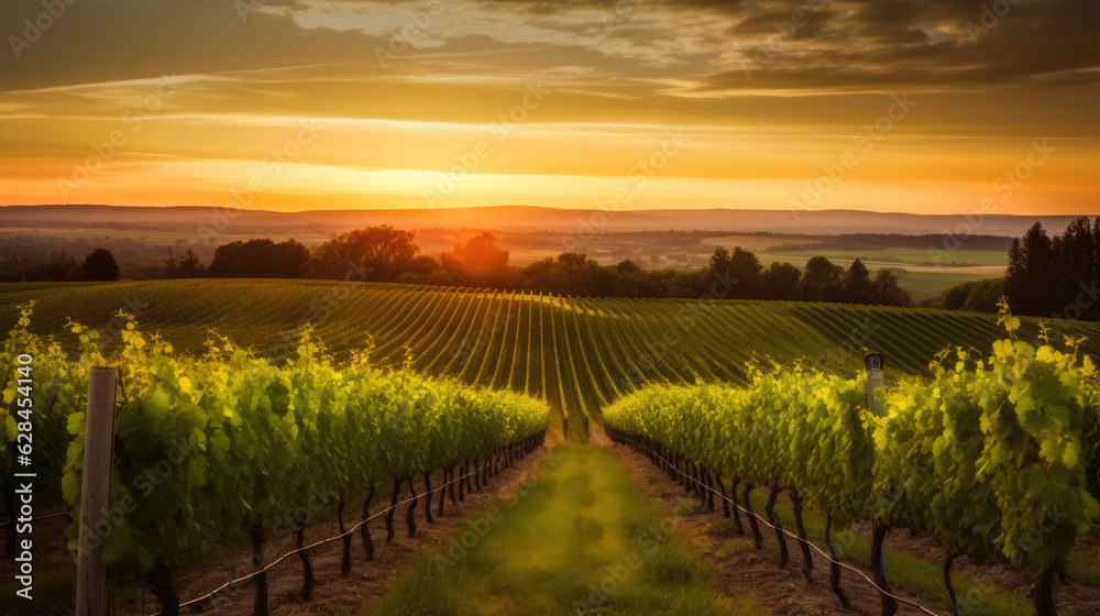
<svg viewBox="0 0 1100 616">
<path fill-rule="evenodd" d="M 724 600 L 705 565 L 610 451 L 562 443 L 514 499 L 468 520 L 398 578 L 374 615 L 758 615 Z"/>
</svg>

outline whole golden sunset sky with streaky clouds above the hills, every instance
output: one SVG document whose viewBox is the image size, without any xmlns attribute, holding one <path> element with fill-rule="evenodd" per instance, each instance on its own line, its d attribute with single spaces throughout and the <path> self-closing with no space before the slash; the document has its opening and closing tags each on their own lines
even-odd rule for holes
<svg viewBox="0 0 1100 616">
<path fill-rule="evenodd" d="M 0 204 L 1098 213 L 1094 0 L 4 0 Z"/>
</svg>

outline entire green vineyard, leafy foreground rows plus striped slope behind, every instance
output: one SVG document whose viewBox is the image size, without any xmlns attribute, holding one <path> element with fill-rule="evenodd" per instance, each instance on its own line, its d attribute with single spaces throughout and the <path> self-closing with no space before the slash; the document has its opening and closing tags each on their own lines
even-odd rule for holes
<svg viewBox="0 0 1100 616">
<path fill-rule="evenodd" d="M 304 594 L 312 587 L 309 516 L 295 515 L 308 495 L 333 497 L 324 512 L 340 535 L 324 541 L 342 543 L 346 573 L 353 534 L 374 553 L 371 520 L 384 517 L 388 542 L 408 505 L 413 536 L 418 501 L 430 522 L 448 491 L 453 503 L 455 487 L 459 498 L 480 490 L 548 430 L 586 440 L 590 422 L 712 510 L 722 501 L 757 548 L 761 527 L 773 528 L 783 565 L 795 541 L 807 581 L 812 549 L 826 552 L 812 548 L 804 510 L 825 517 L 829 554 L 838 530 L 872 524 L 869 582 L 884 614 L 891 527 L 946 549 L 956 608 L 950 569 L 965 557 L 1032 576 L 1047 616 L 1077 539 L 1100 516 L 1090 358 L 1100 331 L 1090 323 L 302 280 L 12 288 L 0 295 L 11 332 L 2 359 L 33 358 L 36 380 L 26 394 L 12 374 L 0 381 L 0 447 L 13 450 L 24 431 L 13 400 L 32 398 L 33 471 L 76 520 L 89 373 L 121 367 L 111 494 L 125 515 L 108 516 L 94 547 L 169 616 L 209 606 L 178 596 L 173 571 L 215 537 L 252 544 L 242 581 L 266 614 L 273 532 L 296 535 L 298 550 L 275 562 L 300 559 Z M 868 349 L 890 371 L 879 413 L 868 408 Z M 0 458 L 0 474 L 13 464 Z M 754 509 L 761 493 L 767 504 Z M 779 521 L 784 504 L 794 528 Z M 817 562 L 829 563 L 846 605 L 833 558 Z"/>
</svg>

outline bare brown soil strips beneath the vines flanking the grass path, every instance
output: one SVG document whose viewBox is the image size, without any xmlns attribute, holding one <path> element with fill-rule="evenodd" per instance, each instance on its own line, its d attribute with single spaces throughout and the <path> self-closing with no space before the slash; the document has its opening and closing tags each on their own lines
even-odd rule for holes
<svg viewBox="0 0 1100 616">
<path fill-rule="evenodd" d="M 761 606 L 773 614 L 784 616 L 824 616 L 840 614 L 878 615 L 881 603 L 878 593 L 854 573 L 845 571 L 842 575 L 842 588 L 851 602 L 851 608 L 840 606 L 836 595 L 828 587 L 827 562 L 814 552 L 815 571 L 813 582 L 806 584 L 801 573 L 801 552 L 794 541 L 789 540 L 791 550 L 790 563 L 787 568 L 778 566 L 778 553 L 774 547 L 774 535 L 770 529 L 761 528 L 765 537 L 765 550 L 752 547 L 751 536 L 737 532 L 733 521 L 724 518 L 721 502 L 716 502 L 715 513 L 696 506 L 697 499 L 685 494 L 682 486 L 669 479 L 649 459 L 625 446 L 613 446 L 609 439 L 598 430 L 593 430 L 591 441 L 604 447 L 612 447 L 623 460 L 628 473 L 638 486 L 654 501 L 661 510 L 673 521 L 676 535 L 683 537 L 689 547 L 702 557 L 712 571 L 715 587 L 718 593 L 730 600 L 738 601 L 746 596 L 757 597 Z M 522 481 L 541 462 L 549 446 L 540 448 L 527 458 L 518 461 L 512 469 L 502 471 L 491 480 L 487 488 L 468 494 L 463 502 L 452 505 L 450 498 L 444 505 L 446 515 L 436 516 L 436 522 L 428 525 L 424 519 L 424 499 L 418 503 L 416 518 L 417 532 L 414 539 L 407 537 L 405 525 L 406 506 L 400 506 L 395 515 L 397 535 L 393 543 L 385 543 L 385 524 L 382 519 L 371 522 L 372 537 L 375 542 L 373 561 L 365 560 L 365 550 L 359 534 L 353 535 L 352 571 L 349 575 L 340 574 L 342 560 L 342 543 L 333 541 L 310 550 L 317 584 L 314 596 L 302 601 L 301 595 L 301 562 L 297 557 L 289 557 L 268 572 L 271 593 L 271 613 L 275 616 L 294 616 L 300 614 L 331 614 L 341 606 L 359 607 L 381 598 L 391 583 L 405 572 L 417 559 L 426 553 L 435 553 L 446 549 L 452 536 L 461 531 L 462 525 L 470 516 L 484 510 L 494 504 L 510 498 L 519 490 Z M 439 485 L 440 473 L 432 475 L 433 485 Z M 418 491 L 422 485 L 418 485 Z M 372 513 L 383 509 L 388 502 L 386 490 L 380 490 L 375 496 Z M 422 493 L 421 493 L 422 496 Z M 399 499 L 405 498 L 402 496 Z M 438 496 L 436 496 L 438 498 Z M 61 512 L 53 508 L 43 514 Z M 433 514 L 438 512 L 438 501 L 433 501 Z M 349 509 L 345 519 L 351 520 L 359 512 Z M 48 572 L 65 566 L 73 566 L 75 560 L 66 547 L 65 528 L 69 520 L 66 516 L 53 517 L 35 524 L 34 558 L 36 572 Z M 353 524 L 349 521 L 349 526 Z M 745 524 L 748 531 L 748 524 Z M 856 526 L 853 530 L 867 534 L 868 529 Z M 310 543 L 339 534 L 334 519 L 324 520 L 309 527 L 306 531 L 306 542 Z M 2 535 L 2 534 L 0 534 Z M 932 536 L 910 532 L 905 529 L 893 529 L 889 536 L 891 549 L 902 550 L 930 562 L 942 564 L 946 554 L 939 542 Z M 286 537 L 272 543 L 267 551 L 271 562 L 278 554 L 294 548 L 293 537 Z M 1081 538 L 1078 549 L 1090 554 L 1100 552 L 1100 540 L 1094 537 Z M 204 561 L 201 566 L 188 568 L 189 573 L 176 581 L 182 600 L 200 596 L 223 584 L 231 576 L 251 571 L 251 554 L 244 544 L 221 549 L 217 559 Z M 212 563 L 218 563 L 217 565 Z M 0 579 L 11 580 L 15 573 L 14 564 L 0 558 Z M 1004 565 L 974 565 L 967 559 L 957 559 L 954 572 L 969 574 L 977 579 L 990 580 L 998 586 L 1009 588 L 1022 596 L 1030 596 L 1033 582 L 1011 568 Z M 932 607 L 927 600 L 915 597 L 904 592 L 895 593 Z M 206 613 L 251 615 L 255 597 L 254 587 L 250 583 L 241 584 L 223 595 L 226 598 L 218 605 L 217 612 Z M 1077 616 L 1100 616 L 1100 588 L 1086 586 L 1069 581 L 1057 593 L 1059 608 L 1070 607 Z M 72 605 L 65 609 L 63 604 L 56 605 L 59 610 L 44 613 L 72 613 Z M 125 615 L 153 614 L 158 608 L 156 600 L 142 584 L 131 584 L 117 593 L 118 613 Z M 184 608 L 184 614 L 191 613 Z M 902 605 L 899 615 L 922 614 L 920 610 Z"/>
</svg>

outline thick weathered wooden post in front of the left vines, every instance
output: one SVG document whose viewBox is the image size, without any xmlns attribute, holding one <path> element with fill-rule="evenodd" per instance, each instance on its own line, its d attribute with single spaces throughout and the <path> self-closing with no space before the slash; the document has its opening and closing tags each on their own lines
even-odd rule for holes
<svg viewBox="0 0 1100 616">
<path fill-rule="evenodd" d="M 96 548 L 97 525 L 111 507 L 111 453 L 114 442 L 113 369 L 94 367 L 88 375 L 88 417 L 84 437 L 80 487 L 80 543 L 77 556 L 77 616 L 107 615 L 107 566 Z"/>
</svg>

